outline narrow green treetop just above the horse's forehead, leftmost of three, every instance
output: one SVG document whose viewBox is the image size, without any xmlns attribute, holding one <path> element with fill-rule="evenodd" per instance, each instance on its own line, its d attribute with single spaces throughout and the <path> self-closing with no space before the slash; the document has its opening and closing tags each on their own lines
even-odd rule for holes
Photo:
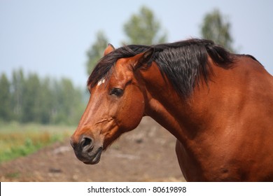
<svg viewBox="0 0 273 196">
<path fill-rule="evenodd" d="M 96 42 L 91 45 L 90 49 L 87 51 L 87 75 L 89 76 L 94 66 L 99 62 L 99 59 L 102 58 L 104 54 L 104 49 L 108 44 L 108 40 L 104 35 L 103 31 L 97 32 L 97 40 Z"/>
</svg>

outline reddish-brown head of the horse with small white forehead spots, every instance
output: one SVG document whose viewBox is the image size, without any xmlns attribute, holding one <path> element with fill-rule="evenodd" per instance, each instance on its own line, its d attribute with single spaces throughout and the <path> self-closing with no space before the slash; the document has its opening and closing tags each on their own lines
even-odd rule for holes
<svg viewBox="0 0 273 196">
<path fill-rule="evenodd" d="M 104 57 L 112 55 L 114 50 L 108 45 Z M 91 74 L 88 82 L 90 100 L 71 137 L 77 158 L 85 164 L 99 162 L 103 150 L 121 134 L 139 125 L 144 116 L 146 95 L 136 72 L 152 55 L 153 49 L 117 59 L 109 74 L 99 80 L 96 80 L 99 73 L 93 71 Z M 97 69 L 103 70 L 107 63 L 98 64 Z"/>
</svg>

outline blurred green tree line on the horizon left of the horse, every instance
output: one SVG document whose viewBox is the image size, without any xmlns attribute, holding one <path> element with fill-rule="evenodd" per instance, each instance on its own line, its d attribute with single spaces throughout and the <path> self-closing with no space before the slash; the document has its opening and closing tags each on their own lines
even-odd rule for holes
<svg viewBox="0 0 273 196">
<path fill-rule="evenodd" d="M 67 78 L 39 78 L 22 69 L 13 71 L 11 79 L 1 73 L 0 120 L 76 125 L 85 108 L 83 96 Z"/>
</svg>

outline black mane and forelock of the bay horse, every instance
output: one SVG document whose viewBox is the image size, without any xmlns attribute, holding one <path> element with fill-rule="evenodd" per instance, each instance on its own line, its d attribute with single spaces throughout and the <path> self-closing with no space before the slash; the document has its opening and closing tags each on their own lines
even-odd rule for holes
<svg viewBox="0 0 273 196">
<path fill-rule="evenodd" d="M 133 57 L 151 47 L 155 51 L 152 60 L 158 64 L 162 76 L 168 78 L 174 89 L 184 97 L 193 92 L 195 84 L 200 83 L 201 78 L 208 85 L 211 72 L 208 57 L 225 69 L 229 69 L 233 62 L 230 52 L 205 39 L 193 38 L 158 45 L 125 45 L 100 59 L 88 78 L 87 85 L 94 87 L 102 78 L 109 79 L 118 59 Z"/>
</svg>

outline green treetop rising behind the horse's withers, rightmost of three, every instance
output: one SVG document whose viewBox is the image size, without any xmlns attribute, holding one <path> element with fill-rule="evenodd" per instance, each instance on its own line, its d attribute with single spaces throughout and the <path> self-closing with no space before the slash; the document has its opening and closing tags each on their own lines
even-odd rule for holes
<svg viewBox="0 0 273 196">
<path fill-rule="evenodd" d="M 234 52 L 235 50 L 232 48 L 233 39 L 230 34 L 230 26 L 228 19 L 221 14 L 220 10 L 215 9 L 204 16 L 201 26 L 202 38 L 210 39 Z"/>
</svg>

